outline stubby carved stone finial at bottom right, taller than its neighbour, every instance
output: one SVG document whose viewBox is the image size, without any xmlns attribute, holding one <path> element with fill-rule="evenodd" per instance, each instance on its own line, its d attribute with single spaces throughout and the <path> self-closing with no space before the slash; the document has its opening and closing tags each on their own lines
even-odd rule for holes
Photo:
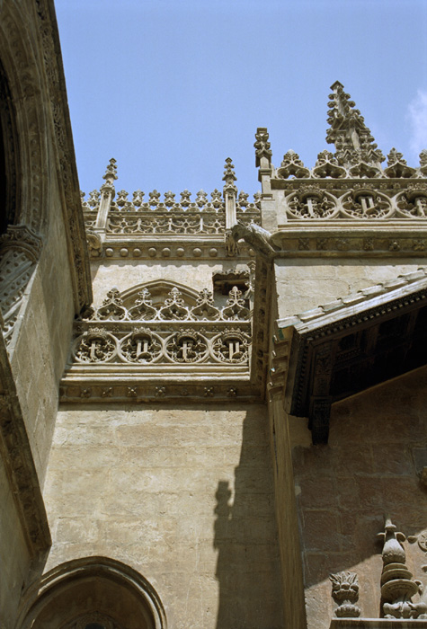
<svg viewBox="0 0 427 629">
<path fill-rule="evenodd" d="M 405 565 L 405 535 L 396 532 L 396 526 L 386 518 L 384 533 L 378 533 L 384 540 L 382 551 L 383 570 L 381 574 L 381 601 L 385 618 L 424 618 L 427 612 L 425 603 L 413 603 L 412 597 L 420 592 L 420 582 L 412 580 L 412 573 Z"/>
</svg>

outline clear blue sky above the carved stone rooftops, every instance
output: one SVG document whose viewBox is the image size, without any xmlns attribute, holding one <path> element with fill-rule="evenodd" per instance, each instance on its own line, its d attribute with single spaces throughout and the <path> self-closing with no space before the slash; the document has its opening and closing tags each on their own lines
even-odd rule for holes
<svg viewBox="0 0 427 629">
<path fill-rule="evenodd" d="M 427 0 L 56 0 L 82 190 L 259 189 L 273 164 L 324 148 L 329 87 L 351 93 L 378 146 L 427 147 Z M 330 147 L 330 150 L 334 148 Z"/>
</svg>

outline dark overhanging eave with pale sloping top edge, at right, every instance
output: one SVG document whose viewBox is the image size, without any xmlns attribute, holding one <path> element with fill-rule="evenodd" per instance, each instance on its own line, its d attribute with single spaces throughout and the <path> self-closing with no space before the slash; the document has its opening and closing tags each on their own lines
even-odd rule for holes
<svg viewBox="0 0 427 629">
<path fill-rule="evenodd" d="M 334 402 L 427 363 L 425 272 L 388 284 L 278 322 L 281 335 L 293 328 L 287 410 L 308 417 L 315 444 L 327 443 Z"/>
</svg>

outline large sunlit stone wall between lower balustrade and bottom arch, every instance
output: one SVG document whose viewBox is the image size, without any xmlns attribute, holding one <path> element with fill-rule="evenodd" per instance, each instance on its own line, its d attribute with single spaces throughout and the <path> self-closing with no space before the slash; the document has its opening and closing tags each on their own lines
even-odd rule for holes
<svg viewBox="0 0 427 629">
<path fill-rule="evenodd" d="M 66 407 L 45 485 L 46 570 L 103 555 L 156 588 L 169 626 L 281 629 L 265 407 Z"/>
</svg>

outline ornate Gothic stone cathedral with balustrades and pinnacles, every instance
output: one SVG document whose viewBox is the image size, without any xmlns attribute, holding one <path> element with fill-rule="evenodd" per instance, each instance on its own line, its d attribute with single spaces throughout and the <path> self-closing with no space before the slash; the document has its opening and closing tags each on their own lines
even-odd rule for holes
<svg viewBox="0 0 427 629">
<path fill-rule="evenodd" d="M 53 0 L 0 0 L 1 629 L 427 627 L 427 150 L 79 191 Z M 255 130 L 255 129 L 254 129 Z"/>
</svg>

